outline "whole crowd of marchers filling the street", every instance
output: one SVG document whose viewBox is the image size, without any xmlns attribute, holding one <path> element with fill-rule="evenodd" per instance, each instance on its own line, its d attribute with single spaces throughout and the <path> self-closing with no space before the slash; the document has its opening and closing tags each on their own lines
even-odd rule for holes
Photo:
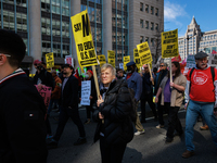
<svg viewBox="0 0 217 163">
<path fill-rule="evenodd" d="M 71 64 L 60 66 L 59 72 L 48 72 L 40 60 L 34 61 L 34 78 L 20 68 L 26 46 L 22 38 L 0 29 L 0 162 L 46 163 L 48 149 L 58 148 L 64 127 L 71 117 L 78 128 L 79 137 L 74 146 L 86 146 L 84 125 L 95 123 L 93 142 L 100 141 L 103 163 L 120 163 L 127 143 L 133 136 L 145 134 L 145 105 L 149 103 L 157 128 L 165 127 L 163 114 L 168 114 L 166 143 L 175 136 L 184 136 L 186 151 L 182 158 L 194 155 L 194 125 L 203 118 L 201 129 L 209 129 L 217 146 L 217 70 L 207 64 L 207 54 L 195 54 L 196 66 L 182 75 L 179 62 L 166 63 L 150 70 L 144 64 L 138 73 L 135 62 L 127 63 L 126 74 L 111 64 L 103 64 L 99 74 L 91 67 L 85 76 Z M 100 95 L 97 93 L 93 75 L 98 75 Z M 81 122 L 79 102 L 81 82 L 90 80 L 90 104 L 86 106 L 87 121 Z M 37 88 L 36 88 L 37 87 Z M 51 100 L 46 106 L 38 90 L 50 87 Z M 178 111 L 184 103 L 186 129 L 179 121 Z M 138 115 L 138 106 L 141 116 Z M 58 128 L 51 130 L 50 114 L 59 113 Z M 135 130 L 136 128 L 136 130 Z"/>
</svg>

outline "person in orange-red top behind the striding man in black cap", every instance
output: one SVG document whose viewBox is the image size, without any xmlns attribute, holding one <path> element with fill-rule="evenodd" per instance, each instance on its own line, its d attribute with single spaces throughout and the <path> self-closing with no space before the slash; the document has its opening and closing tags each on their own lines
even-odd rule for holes
<svg viewBox="0 0 217 163">
<path fill-rule="evenodd" d="M 56 71 L 52 70 L 51 75 L 55 80 L 55 87 L 54 87 L 53 91 L 51 92 L 51 100 L 50 100 L 49 108 L 48 108 L 48 115 L 50 115 L 53 104 L 59 106 L 59 100 L 61 98 L 61 86 L 62 86 L 62 80 L 56 75 Z"/>
</svg>

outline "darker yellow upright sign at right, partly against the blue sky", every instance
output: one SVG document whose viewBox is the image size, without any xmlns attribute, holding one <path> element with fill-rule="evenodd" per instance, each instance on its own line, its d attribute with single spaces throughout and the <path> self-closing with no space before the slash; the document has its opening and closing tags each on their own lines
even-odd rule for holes
<svg viewBox="0 0 217 163">
<path fill-rule="evenodd" d="M 162 33 L 162 58 L 174 58 L 178 55 L 178 29 Z"/>
</svg>

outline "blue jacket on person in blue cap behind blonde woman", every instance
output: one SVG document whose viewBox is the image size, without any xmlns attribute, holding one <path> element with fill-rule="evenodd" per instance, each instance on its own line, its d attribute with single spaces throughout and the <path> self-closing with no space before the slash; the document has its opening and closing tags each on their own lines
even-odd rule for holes
<svg viewBox="0 0 217 163">
<path fill-rule="evenodd" d="M 139 73 L 135 72 L 130 78 L 127 79 L 126 76 L 125 79 L 127 80 L 128 87 L 135 90 L 135 99 L 139 101 L 142 93 L 142 77 Z"/>
</svg>

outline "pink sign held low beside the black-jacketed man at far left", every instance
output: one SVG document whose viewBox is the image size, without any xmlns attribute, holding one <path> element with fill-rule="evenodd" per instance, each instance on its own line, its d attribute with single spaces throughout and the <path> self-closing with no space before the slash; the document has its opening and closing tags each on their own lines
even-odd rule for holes
<svg viewBox="0 0 217 163">
<path fill-rule="evenodd" d="M 41 89 L 38 88 L 38 85 L 35 85 L 40 96 L 43 98 L 46 108 L 48 109 L 50 100 L 51 100 L 51 87 L 42 86 Z"/>
</svg>

